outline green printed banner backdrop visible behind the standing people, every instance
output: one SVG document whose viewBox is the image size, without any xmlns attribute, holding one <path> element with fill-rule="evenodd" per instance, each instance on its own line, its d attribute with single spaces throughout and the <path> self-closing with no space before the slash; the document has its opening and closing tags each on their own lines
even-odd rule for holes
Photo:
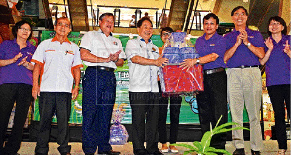
<svg viewBox="0 0 291 155">
<path fill-rule="evenodd" d="M 53 38 L 55 36 L 55 31 L 42 31 L 42 38 L 41 41 Z M 80 32 L 71 32 L 68 35 L 68 39 L 78 46 L 81 43 L 83 34 Z M 126 47 L 126 43 L 129 40 L 129 37 L 126 35 L 114 35 L 114 37 L 119 38 L 121 40 L 123 48 Z M 159 35 L 152 36 L 153 43 L 158 46 L 162 47 L 163 42 Z M 191 39 L 192 43 L 194 44 L 196 39 Z M 71 104 L 71 115 L 69 123 L 71 124 L 82 124 L 82 78 L 85 74 L 87 66 L 84 65 L 84 68 L 81 69 L 81 80 L 80 80 L 80 91 L 79 95 L 76 100 L 72 101 Z M 131 124 L 131 108 L 129 103 L 129 67 L 127 61 L 122 67 L 118 67 L 115 71 L 115 76 L 117 79 L 117 90 L 116 90 L 116 102 L 114 105 L 114 109 L 122 108 L 126 114 L 124 119 L 121 123 L 123 124 Z M 169 110 L 169 109 L 168 109 Z M 167 123 L 170 123 L 170 116 L 168 111 Z M 38 99 L 35 101 L 34 104 L 34 115 L 33 120 L 39 121 L 39 109 L 38 109 Z M 231 115 L 228 108 L 228 121 L 231 122 Z M 52 122 L 56 122 L 56 116 L 54 115 Z M 247 112 L 244 109 L 243 112 L 243 122 L 249 122 Z M 180 124 L 199 124 L 199 117 L 198 117 L 198 110 L 197 110 L 197 102 L 196 98 L 191 97 L 183 97 L 181 112 L 180 112 Z"/>
</svg>

